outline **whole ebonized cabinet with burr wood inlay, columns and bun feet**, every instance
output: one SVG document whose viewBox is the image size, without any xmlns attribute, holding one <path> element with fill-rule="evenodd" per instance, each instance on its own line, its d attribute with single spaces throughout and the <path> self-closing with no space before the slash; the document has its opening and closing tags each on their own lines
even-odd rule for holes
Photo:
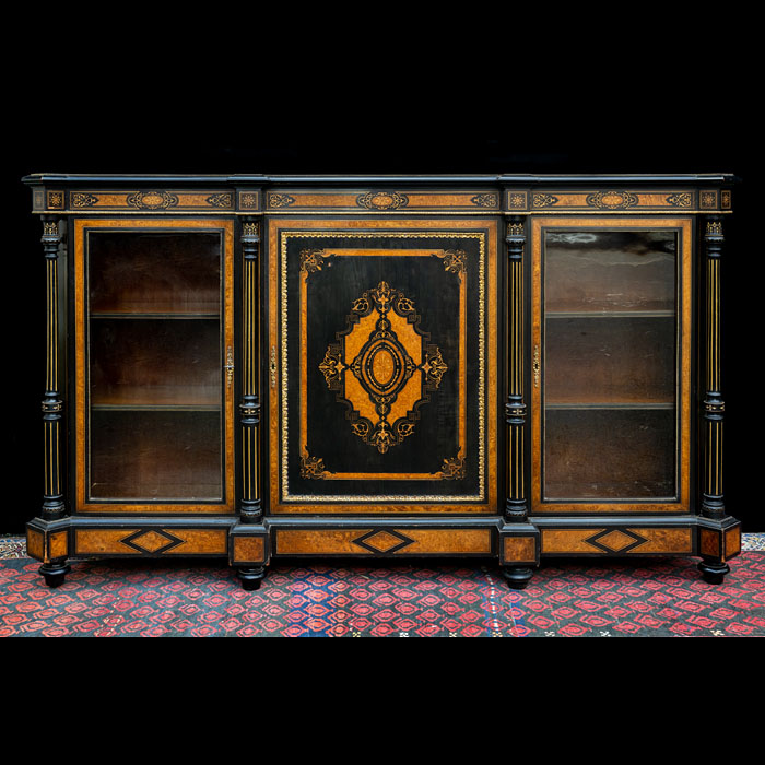
<svg viewBox="0 0 765 765">
<path fill-rule="evenodd" d="M 50 586 L 93 556 L 740 552 L 731 175 L 87 176 L 43 225 Z"/>
</svg>

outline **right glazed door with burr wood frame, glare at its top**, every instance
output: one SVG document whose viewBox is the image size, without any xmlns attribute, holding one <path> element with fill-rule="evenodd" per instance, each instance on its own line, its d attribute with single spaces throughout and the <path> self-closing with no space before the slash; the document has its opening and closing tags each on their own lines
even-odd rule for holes
<svg viewBox="0 0 765 765">
<path fill-rule="evenodd" d="M 532 511 L 686 511 L 691 221 L 532 222 Z"/>
</svg>

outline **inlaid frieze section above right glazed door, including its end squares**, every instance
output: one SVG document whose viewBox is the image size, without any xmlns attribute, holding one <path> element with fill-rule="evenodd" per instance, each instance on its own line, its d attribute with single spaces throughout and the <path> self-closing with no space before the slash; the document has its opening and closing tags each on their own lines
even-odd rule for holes
<svg viewBox="0 0 765 765">
<path fill-rule="evenodd" d="M 506 189 L 505 210 L 513 213 L 731 212 L 730 189 Z"/>
</svg>

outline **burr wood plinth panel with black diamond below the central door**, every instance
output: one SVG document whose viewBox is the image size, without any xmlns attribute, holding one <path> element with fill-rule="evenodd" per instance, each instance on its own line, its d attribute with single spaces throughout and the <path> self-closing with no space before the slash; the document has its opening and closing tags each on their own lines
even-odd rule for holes
<svg viewBox="0 0 765 765">
<path fill-rule="evenodd" d="M 490 529 L 278 529 L 279 555 L 490 555 Z"/>
</svg>

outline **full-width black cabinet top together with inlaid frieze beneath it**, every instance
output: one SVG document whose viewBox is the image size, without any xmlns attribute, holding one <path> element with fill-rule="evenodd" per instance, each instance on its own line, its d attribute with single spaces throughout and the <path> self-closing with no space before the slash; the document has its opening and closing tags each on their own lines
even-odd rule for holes
<svg viewBox="0 0 765 765">
<path fill-rule="evenodd" d="M 731 173 L 633 175 L 83 175 L 37 173 L 33 212 L 233 215 L 722 213 Z"/>
</svg>

